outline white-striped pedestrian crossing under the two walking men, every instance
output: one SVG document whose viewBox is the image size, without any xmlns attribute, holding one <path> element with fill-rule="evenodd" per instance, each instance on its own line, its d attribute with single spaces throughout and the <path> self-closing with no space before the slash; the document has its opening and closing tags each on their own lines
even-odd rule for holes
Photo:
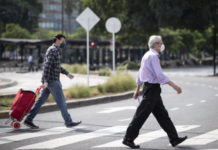
<svg viewBox="0 0 218 150">
<path fill-rule="evenodd" d="M 17 146 L 16 150 L 21 149 L 56 149 L 72 144 L 77 144 L 79 142 L 86 142 L 88 140 L 97 140 L 97 139 L 103 139 L 104 137 L 110 137 L 113 135 L 119 135 L 115 136 L 116 139 L 110 138 L 111 141 L 105 141 L 105 143 L 101 143 L 100 145 L 90 145 L 89 148 L 92 149 L 105 149 L 105 148 L 119 148 L 119 147 L 125 147 L 122 144 L 122 138 L 125 134 L 127 126 L 110 126 L 110 127 L 103 127 L 100 129 L 95 130 L 88 130 L 88 126 L 78 126 L 74 128 L 66 128 L 66 127 L 54 127 L 50 129 L 44 129 L 44 130 L 37 130 L 35 132 L 32 132 L 31 130 L 23 132 L 11 132 L 12 129 L 10 128 L 0 128 L 0 147 L 2 145 L 6 144 L 13 144 L 13 142 L 20 142 L 21 145 Z M 200 125 L 177 125 L 176 129 L 179 133 L 181 132 L 192 132 L 192 130 L 200 129 Z M 88 132 L 79 132 L 78 129 L 84 129 Z M 25 130 L 25 129 L 23 129 Z M 78 131 L 77 131 L 78 130 Z M 72 132 L 73 131 L 73 132 Z M 7 132 L 10 132 L 10 134 L 6 134 Z M 69 134 L 72 132 L 72 135 Z M 11 135 L 11 133 L 13 133 Z M 48 140 L 36 140 L 44 137 L 49 137 L 51 135 L 62 135 L 57 136 L 56 138 L 48 139 Z M 63 136 L 64 135 L 64 136 Z M 54 137 L 54 136 L 53 136 Z M 153 142 L 157 140 L 161 140 L 161 138 L 166 138 L 167 135 L 162 129 L 158 130 L 152 130 L 152 131 L 146 131 L 145 133 L 141 133 L 139 137 L 135 140 L 136 144 L 143 144 L 148 142 Z M 35 143 L 29 143 L 22 145 L 21 141 L 29 140 L 33 141 L 36 140 Z M 41 142 L 40 142 L 41 141 Z M 193 137 L 189 137 L 184 143 L 182 143 L 182 146 L 208 146 L 210 143 L 218 141 L 218 129 L 208 131 L 206 133 L 201 133 L 194 135 Z M 166 145 L 167 147 L 167 145 Z M 202 149 L 203 150 L 203 149 Z M 208 149 L 212 150 L 212 149 Z M 214 149 L 215 150 L 215 149 Z"/>
</svg>

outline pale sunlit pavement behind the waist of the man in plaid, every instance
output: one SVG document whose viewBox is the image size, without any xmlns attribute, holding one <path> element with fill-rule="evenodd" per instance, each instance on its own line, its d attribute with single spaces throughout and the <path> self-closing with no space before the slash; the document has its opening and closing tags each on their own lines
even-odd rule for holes
<svg viewBox="0 0 218 150">
<path fill-rule="evenodd" d="M 42 72 L 16 73 L 3 72 L 0 73 L 0 95 L 16 94 L 19 89 L 35 91 L 41 83 Z M 89 85 L 94 86 L 102 84 L 108 77 L 90 75 Z M 63 89 L 72 87 L 73 85 L 87 85 L 87 76 L 74 74 L 74 79 L 70 80 L 65 75 L 60 77 Z M 10 87 L 9 87 L 10 86 Z"/>
</svg>

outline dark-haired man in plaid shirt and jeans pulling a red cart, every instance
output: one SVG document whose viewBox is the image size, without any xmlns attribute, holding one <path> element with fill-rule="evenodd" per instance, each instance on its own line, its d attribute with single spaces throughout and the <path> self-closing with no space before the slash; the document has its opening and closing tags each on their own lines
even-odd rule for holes
<svg viewBox="0 0 218 150">
<path fill-rule="evenodd" d="M 45 88 L 41 91 L 39 99 L 36 101 L 34 107 L 26 117 L 24 124 L 32 129 L 39 128 L 33 123 L 34 117 L 39 112 L 40 107 L 48 99 L 50 93 L 52 94 L 55 102 L 57 103 L 61 115 L 65 121 L 67 127 L 73 127 L 81 123 L 73 122 L 70 114 L 67 111 L 66 99 L 62 90 L 62 85 L 60 82 L 60 73 L 65 74 L 70 79 L 73 78 L 73 75 L 69 74 L 64 68 L 60 65 L 60 51 L 66 46 L 65 36 L 58 34 L 54 38 L 54 43 L 50 46 L 45 55 L 45 62 L 42 74 L 42 83 L 45 85 Z"/>
</svg>

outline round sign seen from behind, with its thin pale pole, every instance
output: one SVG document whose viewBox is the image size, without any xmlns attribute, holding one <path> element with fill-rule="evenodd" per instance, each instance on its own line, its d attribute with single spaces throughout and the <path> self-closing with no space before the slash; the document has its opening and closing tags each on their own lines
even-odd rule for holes
<svg viewBox="0 0 218 150">
<path fill-rule="evenodd" d="M 112 33 L 112 51 L 113 51 L 113 72 L 115 72 L 115 33 L 119 32 L 121 29 L 121 22 L 118 18 L 111 17 L 106 21 L 106 29 L 108 32 Z"/>
</svg>

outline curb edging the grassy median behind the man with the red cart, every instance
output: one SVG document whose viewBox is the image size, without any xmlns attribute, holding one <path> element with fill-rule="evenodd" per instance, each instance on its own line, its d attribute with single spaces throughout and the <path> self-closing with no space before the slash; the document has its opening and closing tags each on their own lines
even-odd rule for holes
<svg viewBox="0 0 218 150">
<path fill-rule="evenodd" d="M 95 104 L 126 100 L 128 98 L 131 98 L 133 93 L 134 92 L 126 92 L 126 93 L 116 94 L 111 96 L 102 96 L 102 97 L 79 99 L 79 100 L 68 100 L 67 107 L 69 109 L 69 108 L 84 107 L 84 106 L 90 106 Z M 49 104 L 44 104 L 40 108 L 39 113 L 52 112 L 56 110 L 59 110 L 56 103 L 49 103 Z M 9 118 L 9 110 L 0 111 L 0 119 L 3 118 Z"/>
</svg>

